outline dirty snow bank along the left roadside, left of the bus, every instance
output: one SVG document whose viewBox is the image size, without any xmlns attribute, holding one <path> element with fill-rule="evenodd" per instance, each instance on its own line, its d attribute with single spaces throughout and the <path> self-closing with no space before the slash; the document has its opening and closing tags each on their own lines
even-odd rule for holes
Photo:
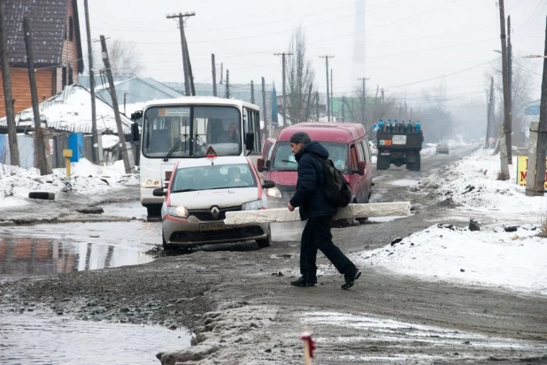
<svg viewBox="0 0 547 365">
<path fill-rule="evenodd" d="M 0 206 L 17 207 L 28 203 L 29 192 L 96 194 L 115 186 L 139 184 L 139 177 L 126 174 L 123 161 L 110 166 L 97 166 L 83 158 L 71 163 L 71 177 L 65 169 L 54 169 L 50 175 L 40 176 L 35 168 L 22 169 L 0 164 Z"/>
</svg>

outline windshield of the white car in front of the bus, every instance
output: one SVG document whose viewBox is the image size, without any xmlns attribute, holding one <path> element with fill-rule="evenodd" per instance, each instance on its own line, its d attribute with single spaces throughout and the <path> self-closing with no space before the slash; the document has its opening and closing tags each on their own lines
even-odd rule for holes
<svg viewBox="0 0 547 365">
<path fill-rule="evenodd" d="M 257 186 L 249 164 L 212 164 L 178 169 L 173 177 L 172 192 L 249 186 Z"/>
</svg>

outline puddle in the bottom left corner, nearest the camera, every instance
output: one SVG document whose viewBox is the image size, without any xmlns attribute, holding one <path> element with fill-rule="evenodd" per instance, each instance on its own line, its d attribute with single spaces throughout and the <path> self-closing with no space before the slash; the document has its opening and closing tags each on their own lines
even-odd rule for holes
<svg viewBox="0 0 547 365">
<path fill-rule="evenodd" d="M 158 363 L 156 354 L 190 346 L 189 331 L 76 321 L 46 313 L 0 312 L 0 363 Z"/>
</svg>

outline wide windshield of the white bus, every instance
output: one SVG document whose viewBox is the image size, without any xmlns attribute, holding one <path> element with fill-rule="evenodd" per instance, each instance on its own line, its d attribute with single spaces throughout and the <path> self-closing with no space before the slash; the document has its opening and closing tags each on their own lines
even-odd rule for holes
<svg viewBox="0 0 547 365">
<path fill-rule="evenodd" d="M 204 157 L 242 153 L 241 112 L 232 106 L 171 105 L 150 107 L 143 115 L 143 156 Z M 176 146 L 176 148 L 175 148 Z"/>
</svg>

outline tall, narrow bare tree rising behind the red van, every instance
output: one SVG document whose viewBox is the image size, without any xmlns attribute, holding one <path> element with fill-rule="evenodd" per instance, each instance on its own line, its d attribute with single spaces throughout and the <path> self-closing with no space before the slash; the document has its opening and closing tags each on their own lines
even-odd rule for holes
<svg viewBox="0 0 547 365">
<path fill-rule="evenodd" d="M 302 27 L 295 30 L 291 36 L 289 57 L 287 63 L 289 97 L 287 110 L 293 123 L 310 120 L 315 102 L 315 72 L 312 61 L 306 56 L 306 40 Z"/>
</svg>

